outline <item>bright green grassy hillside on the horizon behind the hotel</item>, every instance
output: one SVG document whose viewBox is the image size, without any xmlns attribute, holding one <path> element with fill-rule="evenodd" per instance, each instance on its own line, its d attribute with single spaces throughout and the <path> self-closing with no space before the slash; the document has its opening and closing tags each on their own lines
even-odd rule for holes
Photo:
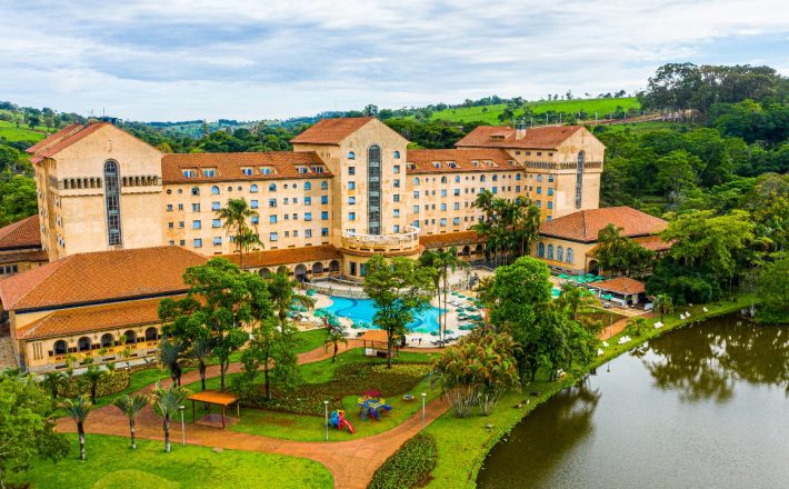
<svg viewBox="0 0 789 489">
<path fill-rule="evenodd" d="M 639 110 L 640 104 L 635 97 L 626 97 L 618 99 L 577 99 L 577 100 L 543 100 L 536 102 L 527 102 L 531 108 L 535 117 L 545 114 L 546 112 L 563 112 L 567 114 L 576 114 L 580 111 L 586 112 L 590 119 L 595 118 L 595 112 L 603 119 L 606 114 L 612 113 L 618 107 L 623 111 L 629 109 Z M 459 107 L 455 109 L 446 109 L 433 112 L 430 116 L 431 120 L 447 120 L 451 122 L 476 122 L 481 121 L 488 124 L 500 124 L 499 116 L 507 106 L 499 103 L 496 106 L 480 107 Z M 523 114 L 522 110 L 515 112 L 516 118 Z M 535 121 L 537 123 L 537 121 Z"/>
</svg>

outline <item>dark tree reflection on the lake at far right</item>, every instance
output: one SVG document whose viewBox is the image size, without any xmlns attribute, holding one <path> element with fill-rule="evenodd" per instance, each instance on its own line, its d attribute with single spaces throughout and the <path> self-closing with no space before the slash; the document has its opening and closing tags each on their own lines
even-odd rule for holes
<svg viewBox="0 0 789 489">
<path fill-rule="evenodd" d="M 789 382 L 789 335 L 736 321 L 717 319 L 652 340 L 642 361 L 656 386 L 676 390 L 685 401 L 722 402 L 733 396 L 737 380 Z"/>
</svg>

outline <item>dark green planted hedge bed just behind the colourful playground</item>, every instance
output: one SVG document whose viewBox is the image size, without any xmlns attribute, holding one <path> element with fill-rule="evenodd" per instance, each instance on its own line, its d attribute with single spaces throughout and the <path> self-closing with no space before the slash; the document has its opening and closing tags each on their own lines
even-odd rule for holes
<svg viewBox="0 0 789 489">
<path fill-rule="evenodd" d="M 244 406 L 321 416 L 323 400 L 329 400 L 330 409 L 342 409 L 343 397 L 361 396 L 367 390 L 378 390 L 383 397 L 398 396 L 411 390 L 429 371 L 427 363 L 397 363 L 391 370 L 374 363 L 350 363 L 338 368 L 337 377 L 329 382 L 304 383 L 292 392 L 273 389 L 271 401 L 266 399 L 262 386 L 237 395 Z"/>
</svg>

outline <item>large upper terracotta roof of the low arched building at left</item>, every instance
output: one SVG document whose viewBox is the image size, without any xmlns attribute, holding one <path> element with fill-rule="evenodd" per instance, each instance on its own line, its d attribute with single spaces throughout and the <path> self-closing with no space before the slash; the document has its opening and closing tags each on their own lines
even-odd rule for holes
<svg viewBox="0 0 789 489">
<path fill-rule="evenodd" d="M 0 281 L 4 310 L 181 292 L 187 268 L 208 261 L 178 247 L 77 253 Z"/>
</svg>

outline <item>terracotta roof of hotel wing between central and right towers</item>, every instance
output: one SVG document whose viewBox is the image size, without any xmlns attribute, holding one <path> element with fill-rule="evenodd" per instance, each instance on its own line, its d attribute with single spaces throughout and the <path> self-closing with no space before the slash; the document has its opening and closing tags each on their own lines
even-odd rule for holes
<svg viewBox="0 0 789 489">
<path fill-rule="evenodd" d="M 407 173 L 525 170 L 523 167 L 515 164 L 512 157 L 503 149 L 409 150 L 407 161 Z M 436 168 L 437 163 L 438 168 Z"/>
</svg>

